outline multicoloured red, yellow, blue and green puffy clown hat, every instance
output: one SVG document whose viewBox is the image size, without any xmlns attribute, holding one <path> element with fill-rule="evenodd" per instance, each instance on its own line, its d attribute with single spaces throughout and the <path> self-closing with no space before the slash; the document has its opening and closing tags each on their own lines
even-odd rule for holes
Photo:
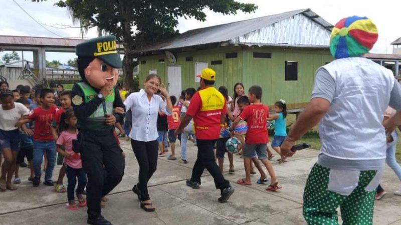
<svg viewBox="0 0 401 225">
<path fill-rule="evenodd" d="M 335 58 L 360 56 L 369 52 L 377 36 L 376 25 L 369 18 L 343 18 L 331 31 L 330 52 Z"/>
</svg>

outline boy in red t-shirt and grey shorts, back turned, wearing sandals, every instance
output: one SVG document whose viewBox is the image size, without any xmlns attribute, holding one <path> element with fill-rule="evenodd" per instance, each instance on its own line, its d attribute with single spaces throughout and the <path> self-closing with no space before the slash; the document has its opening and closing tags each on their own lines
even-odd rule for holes
<svg viewBox="0 0 401 225">
<path fill-rule="evenodd" d="M 262 104 L 262 87 L 254 85 L 248 90 L 249 101 L 253 104 L 247 106 L 231 125 L 233 129 L 238 122 L 243 119 L 247 121 L 248 131 L 245 137 L 244 147 L 244 165 L 245 179 L 237 180 L 240 184 L 251 184 L 251 160 L 258 156 L 259 160 L 266 166 L 271 177 L 271 183 L 266 188 L 267 191 L 280 189 L 278 180 L 273 169 L 272 163 L 267 159 L 267 143 L 269 136 L 267 134 L 266 119 L 269 116 L 269 107 Z M 266 177 L 261 177 L 265 180 Z"/>
</svg>

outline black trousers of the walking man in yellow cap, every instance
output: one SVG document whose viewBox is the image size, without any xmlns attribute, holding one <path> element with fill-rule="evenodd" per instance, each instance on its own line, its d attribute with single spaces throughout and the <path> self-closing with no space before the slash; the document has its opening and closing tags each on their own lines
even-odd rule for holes
<svg viewBox="0 0 401 225">
<path fill-rule="evenodd" d="M 191 180 L 200 183 L 200 176 L 207 168 L 215 179 L 216 188 L 224 189 L 230 186 L 230 182 L 224 178 L 219 166 L 216 164 L 213 151 L 215 142 L 216 140 L 196 139 L 197 159 L 193 165 Z"/>
</svg>

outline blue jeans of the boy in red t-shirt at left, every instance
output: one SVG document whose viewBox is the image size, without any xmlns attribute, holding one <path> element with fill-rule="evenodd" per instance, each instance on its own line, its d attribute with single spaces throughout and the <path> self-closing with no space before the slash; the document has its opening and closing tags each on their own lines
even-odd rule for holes
<svg viewBox="0 0 401 225">
<path fill-rule="evenodd" d="M 56 144 L 54 140 L 34 140 L 34 170 L 35 177 L 41 178 L 43 152 L 46 151 L 47 167 L 45 181 L 52 180 L 54 164 L 56 163 Z"/>
</svg>

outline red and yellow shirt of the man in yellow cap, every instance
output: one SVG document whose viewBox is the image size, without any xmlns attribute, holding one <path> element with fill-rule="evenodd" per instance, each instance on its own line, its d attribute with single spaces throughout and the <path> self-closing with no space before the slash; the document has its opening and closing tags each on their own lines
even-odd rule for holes
<svg viewBox="0 0 401 225">
<path fill-rule="evenodd" d="M 205 140 L 219 139 L 221 117 L 226 113 L 226 99 L 213 86 L 197 91 L 186 111 L 193 117 L 196 139 Z"/>
</svg>

